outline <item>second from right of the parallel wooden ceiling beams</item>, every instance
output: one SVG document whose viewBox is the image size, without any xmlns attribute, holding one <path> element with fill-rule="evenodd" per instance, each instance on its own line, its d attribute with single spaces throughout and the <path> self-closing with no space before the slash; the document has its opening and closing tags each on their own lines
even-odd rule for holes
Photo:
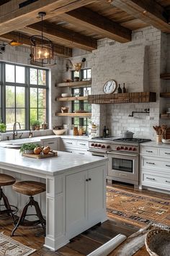
<svg viewBox="0 0 170 256">
<path fill-rule="evenodd" d="M 102 35 L 104 38 L 110 38 L 120 43 L 127 43 L 131 40 L 131 30 L 84 7 L 66 12 L 61 17 L 62 20 L 85 27 L 87 30 L 97 33 L 97 35 Z"/>
</svg>

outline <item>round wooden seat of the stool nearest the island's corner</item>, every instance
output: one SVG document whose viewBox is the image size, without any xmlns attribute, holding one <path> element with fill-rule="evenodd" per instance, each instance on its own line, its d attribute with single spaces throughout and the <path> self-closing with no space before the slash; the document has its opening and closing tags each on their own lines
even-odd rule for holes
<svg viewBox="0 0 170 256">
<path fill-rule="evenodd" d="M 46 190 L 44 183 L 32 181 L 17 182 L 12 188 L 23 195 L 29 196 L 40 194 Z"/>
</svg>

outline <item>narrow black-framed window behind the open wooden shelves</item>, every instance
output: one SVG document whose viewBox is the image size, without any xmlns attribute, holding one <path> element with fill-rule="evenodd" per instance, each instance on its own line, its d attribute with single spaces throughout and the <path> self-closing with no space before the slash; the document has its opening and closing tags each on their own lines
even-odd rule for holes
<svg viewBox="0 0 170 256">
<path fill-rule="evenodd" d="M 81 69 L 79 72 L 73 71 L 72 78 L 79 77 L 79 80 L 91 80 L 91 69 Z M 75 96 L 86 96 L 91 94 L 91 88 L 73 88 L 71 91 Z M 91 113 L 91 104 L 88 101 L 72 101 L 72 112 L 83 110 Z M 74 117 L 72 124 L 76 127 L 83 127 L 85 132 L 88 132 L 91 118 Z"/>
</svg>

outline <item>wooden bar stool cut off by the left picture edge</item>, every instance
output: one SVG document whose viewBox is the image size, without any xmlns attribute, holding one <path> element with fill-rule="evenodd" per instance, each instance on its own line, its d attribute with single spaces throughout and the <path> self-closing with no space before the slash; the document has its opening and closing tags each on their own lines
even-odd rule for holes
<svg viewBox="0 0 170 256">
<path fill-rule="evenodd" d="M 9 205 L 9 200 L 4 195 L 4 192 L 1 187 L 9 186 L 14 184 L 15 179 L 14 177 L 7 175 L 7 174 L 0 174 L 0 200 L 4 201 L 4 205 L 0 205 L 1 207 L 4 206 L 5 210 L 0 210 L 0 215 L 7 213 L 9 216 L 12 216 L 14 219 L 14 213 L 17 213 L 17 207 L 14 205 Z M 13 209 L 12 209 L 13 208 Z"/>
</svg>

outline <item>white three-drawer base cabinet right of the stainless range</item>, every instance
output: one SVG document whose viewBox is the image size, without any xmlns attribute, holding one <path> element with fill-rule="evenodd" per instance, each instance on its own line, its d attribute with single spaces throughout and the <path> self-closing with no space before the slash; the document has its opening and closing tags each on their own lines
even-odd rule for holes
<svg viewBox="0 0 170 256">
<path fill-rule="evenodd" d="M 140 145 L 140 189 L 142 187 L 170 192 L 170 145 L 156 142 Z"/>
</svg>

